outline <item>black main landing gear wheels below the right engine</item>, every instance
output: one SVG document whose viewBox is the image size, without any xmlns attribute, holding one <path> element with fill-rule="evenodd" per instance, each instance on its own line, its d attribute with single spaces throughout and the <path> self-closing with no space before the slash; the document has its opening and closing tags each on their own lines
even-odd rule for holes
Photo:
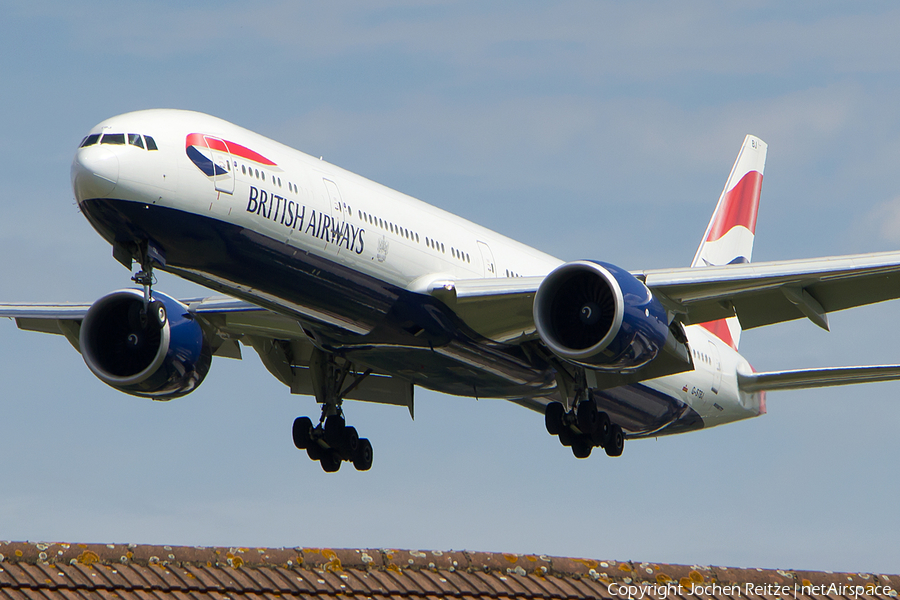
<svg viewBox="0 0 900 600">
<path fill-rule="evenodd" d="M 598 411 L 591 400 L 582 400 L 568 412 L 561 403 L 551 402 L 544 411 L 544 423 L 550 435 L 558 435 L 563 446 L 572 448 L 576 458 L 587 458 L 599 447 L 608 456 L 621 456 L 625 447 L 622 428 L 610 423 L 609 415 Z"/>
</svg>

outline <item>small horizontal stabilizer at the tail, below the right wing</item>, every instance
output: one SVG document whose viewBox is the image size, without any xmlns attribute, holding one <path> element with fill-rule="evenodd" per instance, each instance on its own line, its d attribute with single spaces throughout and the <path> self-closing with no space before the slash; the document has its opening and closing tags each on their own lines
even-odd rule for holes
<svg viewBox="0 0 900 600">
<path fill-rule="evenodd" d="M 768 373 L 742 373 L 738 371 L 738 387 L 742 392 L 776 390 L 801 390 L 806 388 L 893 381 L 900 379 L 900 365 L 868 367 L 826 367 L 796 371 L 770 371 Z"/>
</svg>

